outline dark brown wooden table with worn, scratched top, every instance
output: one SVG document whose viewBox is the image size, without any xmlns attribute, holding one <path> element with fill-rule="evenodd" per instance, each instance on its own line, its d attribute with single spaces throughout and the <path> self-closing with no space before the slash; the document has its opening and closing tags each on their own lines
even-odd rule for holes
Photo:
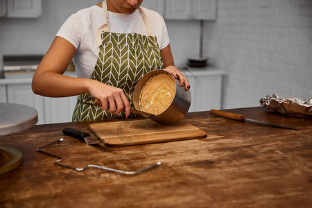
<svg viewBox="0 0 312 208">
<path fill-rule="evenodd" d="M 263 107 L 227 111 L 300 130 L 196 112 L 184 120 L 205 130 L 205 139 L 107 148 L 62 134 L 63 128 L 88 131 L 91 122 L 35 125 L 0 137 L 1 145 L 19 149 L 24 158 L 15 171 L 0 175 L 0 207 L 311 207 L 312 119 Z M 60 137 L 61 144 L 44 150 L 64 157 L 63 164 L 123 170 L 162 165 L 135 176 L 73 171 L 36 150 Z"/>
</svg>

